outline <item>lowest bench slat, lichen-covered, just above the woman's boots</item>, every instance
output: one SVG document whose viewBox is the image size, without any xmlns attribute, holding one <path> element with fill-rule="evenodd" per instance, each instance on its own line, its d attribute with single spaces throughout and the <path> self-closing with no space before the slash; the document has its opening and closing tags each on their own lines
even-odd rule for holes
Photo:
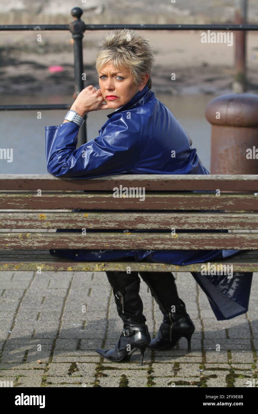
<svg viewBox="0 0 258 414">
<path fill-rule="evenodd" d="M 235 257 L 223 259 L 220 262 L 210 262 L 211 265 L 233 265 L 234 272 L 258 272 L 258 252 L 241 252 Z M 53 258 L 48 250 L 10 250 L 0 251 L 0 271 L 38 271 L 42 272 L 200 272 L 203 263 L 191 265 L 166 265 L 164 263 L 147 262 L 76 262 L 73 260 Z M 230 279 L 229 279 L 230 280 Z"/>
</svg>

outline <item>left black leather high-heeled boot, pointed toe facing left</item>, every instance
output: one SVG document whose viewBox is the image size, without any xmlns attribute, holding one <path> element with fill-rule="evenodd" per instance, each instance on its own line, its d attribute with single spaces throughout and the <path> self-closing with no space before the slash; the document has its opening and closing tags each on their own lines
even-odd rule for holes
<svg viewBox="0 0 258 414">
<path fill-rule="evenodd" d="M 141 351 L 139 365 L 143 364 L 145 349 L 151 338 L 146 318 L 142 314 L 143 304 L 139 295 L 140 278 L 137 272 L 106 272 L 113 288 L 118 315 L 123 320 L 123 331 L 113 349 L 95 349 L 109 361 L 125 361 L 137 349 Z"/>
</svg>

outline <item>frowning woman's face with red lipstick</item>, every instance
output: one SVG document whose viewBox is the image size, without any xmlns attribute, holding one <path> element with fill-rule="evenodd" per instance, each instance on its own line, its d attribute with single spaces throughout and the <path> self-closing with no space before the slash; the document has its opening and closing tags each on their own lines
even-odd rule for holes
<svg viewBox="0 0 258 414">
<path fill-rule="evenodd" d="M 138 89 L 143 89 L 142 85 L 135 85 L 129 71 L 117 70 L 112 64 L 108 63 L 102 67 L 99 73 L 99 87 L 104 101 L 109 108 L 117 109 L 128 103 L 135 96 Z M 148 79 L 147 75 L 147 79 Z"/>
</svg>

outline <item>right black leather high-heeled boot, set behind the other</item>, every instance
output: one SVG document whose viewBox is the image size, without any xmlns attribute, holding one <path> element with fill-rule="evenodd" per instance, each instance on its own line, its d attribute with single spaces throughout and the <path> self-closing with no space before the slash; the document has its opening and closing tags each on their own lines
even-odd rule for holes
<svg viewBox="0 0 258 414">
<path fill-rule="evenodd" d="M 170 272 L 140 272 L 140 276 L 149 287 L 164 316 L 158 335 L 152 339 L 148 348 L 169 351 L 185 337 L 190 351 L 195 326 L 186 312 L 185 303 L 178 297 L 174 275 Z M 171 308 L 173 305 L 175 308 Z"/>
</svg>

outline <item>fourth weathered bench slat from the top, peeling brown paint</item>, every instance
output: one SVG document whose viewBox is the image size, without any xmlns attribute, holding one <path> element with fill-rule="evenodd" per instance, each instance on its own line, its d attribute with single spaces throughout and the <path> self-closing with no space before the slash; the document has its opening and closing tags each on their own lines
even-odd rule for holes
<svg viewBox="0 0 258 414">
<path fill-rule="evenodd" d="M 258 233 L 5 233 L 0 249 L 258 249 Z"/>
</svg>

